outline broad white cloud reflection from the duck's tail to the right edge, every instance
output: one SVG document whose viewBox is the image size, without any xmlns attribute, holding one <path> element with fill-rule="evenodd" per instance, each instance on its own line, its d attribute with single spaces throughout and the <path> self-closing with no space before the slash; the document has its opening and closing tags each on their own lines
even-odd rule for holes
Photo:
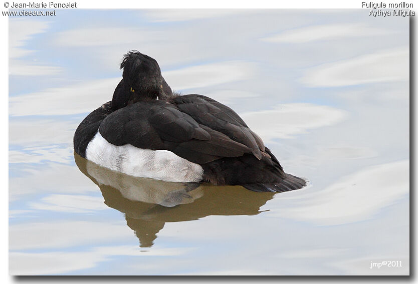
<svg viewBox="0 0 418 284">
<path fill-rule="evenodd" d="M 379 209 L 408 193 L 409 160 L 403 160 L 363 168 L 323 190 L 299 196 L 278 194 L 275 199 L 290 199 L 294 204 L 272 209 L 271 214 L 317 225 L 346 224 L 373 218 Z"/>
</svg>

